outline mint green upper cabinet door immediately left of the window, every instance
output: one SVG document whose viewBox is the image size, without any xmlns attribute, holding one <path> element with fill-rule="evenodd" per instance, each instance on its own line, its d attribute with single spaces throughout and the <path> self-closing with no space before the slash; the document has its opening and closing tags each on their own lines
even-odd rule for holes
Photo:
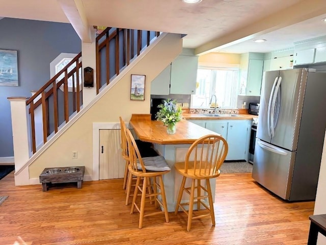
<svg viewBox="0 0 326 245">
<path fill-rule="evenodd" d="M 170 93 L 195 94 L 198 56 L 179 55 L 171 65 Z"/>
</svg>

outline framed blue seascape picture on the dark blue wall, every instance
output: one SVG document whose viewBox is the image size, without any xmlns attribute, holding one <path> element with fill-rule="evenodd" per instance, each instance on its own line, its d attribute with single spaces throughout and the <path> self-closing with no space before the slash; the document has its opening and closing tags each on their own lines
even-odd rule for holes
<svg viewBox="0 0 326 245">
<path fill-rule="evenodd" d="M 18 86 L 16 50 L 0 50 L 0 85 Z"/>
</svg>

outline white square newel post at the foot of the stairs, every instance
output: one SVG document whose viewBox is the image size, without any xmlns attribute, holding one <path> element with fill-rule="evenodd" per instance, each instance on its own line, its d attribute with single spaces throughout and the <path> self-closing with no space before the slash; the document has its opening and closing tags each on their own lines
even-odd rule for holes
<svg viewBox="0 0 326 245">
<path fill-rule="evenodd" d="M 30 158 L 30 134 L 26 97 L 8 97 L 11 109 L 11 125 L 14 142 L 15 171 Z"/>
</svg>

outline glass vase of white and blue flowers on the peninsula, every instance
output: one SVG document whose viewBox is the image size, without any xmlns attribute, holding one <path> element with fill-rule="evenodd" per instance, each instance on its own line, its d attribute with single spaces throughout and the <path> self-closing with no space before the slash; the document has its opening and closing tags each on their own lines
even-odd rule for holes
<svg viewBox="0 0 326 245">
<path fill-rule="evenodd" d="M 156 119 L 162 121 L 167 126 L 168 134 L 175 134 L 176 123 L 181 120 L 182 109 L 176 106 L 176 100 L 165 100 L 163 104 L 157 106 L 160 110 L 156 113 Z"/>
</svg>

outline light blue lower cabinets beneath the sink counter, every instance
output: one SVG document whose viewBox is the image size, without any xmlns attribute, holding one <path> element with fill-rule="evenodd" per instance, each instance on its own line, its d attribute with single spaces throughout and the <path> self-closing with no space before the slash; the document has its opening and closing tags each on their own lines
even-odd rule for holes
<svg viewBox="0 0 326 245">
<path fill-rule="evenodd" d="M 226 160 L 248 162 L 251 120 L 189 120 L 201 127 L 221 134 L 229 146 Z"/>
</svg>

